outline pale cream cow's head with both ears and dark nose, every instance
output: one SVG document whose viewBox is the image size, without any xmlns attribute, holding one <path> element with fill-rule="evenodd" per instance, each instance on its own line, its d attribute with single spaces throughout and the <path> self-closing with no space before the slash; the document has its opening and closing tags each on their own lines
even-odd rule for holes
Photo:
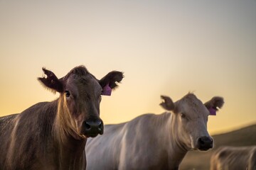
<svg viewBox="0 0 256 170">
<path fill-rule="evenodd" d="M 213 138 L 207 131 L 209 109 L 223 106 L 222 97 L 213 97 L 203 104 L 194 94 L 187 94 L 175 103 L 168 96 L 161 96 L 164 100 L 160 105 L 167 111 L 172 111 L 172 128 L 175 128 L 175 139 L 182 142 L 186 149 L 208 150 L 213 148 Z"/>
</svg>

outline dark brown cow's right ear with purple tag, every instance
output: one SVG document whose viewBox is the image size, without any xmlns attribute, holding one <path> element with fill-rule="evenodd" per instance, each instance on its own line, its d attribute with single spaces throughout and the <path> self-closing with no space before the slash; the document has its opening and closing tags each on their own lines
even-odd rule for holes
<svg viewBox="0 0 256 170">
<path fill-rule="evenodd" d="M 123 78 L 123 72 L 112 71 L 100 79 L 99 83 L 102 86 L 102 95 L 110 96 L 112 89 L 116 89 L 118 86 L 117 83 L 120 83 Z"/>
</svg>

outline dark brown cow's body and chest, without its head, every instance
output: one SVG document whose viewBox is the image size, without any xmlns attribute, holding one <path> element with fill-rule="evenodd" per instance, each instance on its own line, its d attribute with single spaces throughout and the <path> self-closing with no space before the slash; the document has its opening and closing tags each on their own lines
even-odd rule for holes
<svg viewBox="0 0 256 170">
<path fill-rule="evenodd" d="M 57 106 L 57 101 L 38 103 L 21 114 L 0 118 L 1 169 L 85 168 L 86 139 L 66 136 L 65 147 L 58 141 Z"/>
</svg>

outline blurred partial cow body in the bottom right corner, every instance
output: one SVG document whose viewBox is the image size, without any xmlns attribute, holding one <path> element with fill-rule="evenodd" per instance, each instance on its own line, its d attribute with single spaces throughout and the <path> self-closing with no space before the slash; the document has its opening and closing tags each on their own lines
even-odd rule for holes
<svg viewBox="0 0 256 170">
<path fill-rule="evenodd" d="M 210 158 L 210 170 L 256 169 L 256 146 L 220 147 Z"/>
</svg>

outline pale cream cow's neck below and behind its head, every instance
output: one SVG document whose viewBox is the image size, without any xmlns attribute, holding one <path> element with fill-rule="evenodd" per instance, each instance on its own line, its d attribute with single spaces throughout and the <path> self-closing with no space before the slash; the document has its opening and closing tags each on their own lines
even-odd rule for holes
<svg viewBox="0 0 256 170">
<path fill-rule="evenodd" d="M 170 113 L 168 113 L 170 114 Z M 184 147 L 184 144 L 181 140 L 181 135 L 178 134 L 178 118 L 174 113 L 169 115 L 169 118 L 166 120 L 166 148 L 169 148 L 168 151 L 168 164 L 171 167 L 178 167 L 181 163 L 183 157 L 185 157 L 188 150 Z"/>
</svg>

